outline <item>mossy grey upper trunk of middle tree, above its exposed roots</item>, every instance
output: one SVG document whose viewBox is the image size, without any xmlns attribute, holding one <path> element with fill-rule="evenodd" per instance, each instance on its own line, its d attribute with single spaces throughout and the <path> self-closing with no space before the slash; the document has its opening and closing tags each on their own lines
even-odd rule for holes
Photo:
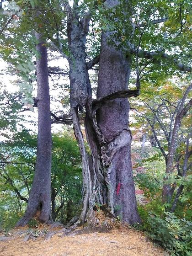
<svg viewBox="0 0 192 256">
<path fill-rule="evenodd" d="M 68 18 L 69 42 L 69 79 L 70 79 L 70 106 L 79 107 L 80 110 L 91 96 L 91 86 L 86 65 L 86 35 L 88 30 L 84 27 L 84 20 L 79 21 L 77 7 L 74 6 Z"/>
</svg>

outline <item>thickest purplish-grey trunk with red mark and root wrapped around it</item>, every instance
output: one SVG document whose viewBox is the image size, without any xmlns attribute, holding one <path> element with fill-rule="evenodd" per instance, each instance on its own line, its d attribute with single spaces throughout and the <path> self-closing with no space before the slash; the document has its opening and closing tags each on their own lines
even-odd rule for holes
<svg viewBox="0 0 192 256">
<path fill-rule="evenodd" d="M 111 5 L 111 1 L 107 1 Z M 113 2 L 113 1 L 112 1 Z M 108 32 L 102 34 L 97 97 L 125 90 L 130 75 L 130 60 L 107 44 Z M 130 224 L 140 222 L 137 212 L 131 164 L 131 131 L 128 128 L 129 103 L 116 99 L 103 103 L 96 113 L 97 125 L 106 145 L 105 180 L 107 203 L 112 213 Z"/>
</svg>

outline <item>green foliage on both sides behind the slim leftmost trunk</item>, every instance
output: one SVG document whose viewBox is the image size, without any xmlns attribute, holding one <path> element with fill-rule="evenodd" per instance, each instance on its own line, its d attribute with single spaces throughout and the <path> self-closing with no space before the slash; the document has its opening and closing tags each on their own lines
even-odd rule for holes
<svg viewBox="0 0 192 256">
<path fill-rule="evenodd" d="M 27 130 L 0 144 L 0 227 L 4 229 L 12 228 L 26 209 L 21 197 L 29 196 L 36 150 L 37 136 Z M 65 222 L 80 212 L 82 189 L 80 152 L 69 132 L 53 134 L 51 184 L 55 218 Z"/>
</svg>

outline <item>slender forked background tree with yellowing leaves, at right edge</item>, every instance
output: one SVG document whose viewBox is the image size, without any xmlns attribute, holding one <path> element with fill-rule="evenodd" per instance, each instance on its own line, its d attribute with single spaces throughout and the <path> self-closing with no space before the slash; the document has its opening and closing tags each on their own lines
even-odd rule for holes
<svg viewBox="0 0 192 256">
<path fill-rule="evenodd" d="M 158 95 L 148 87 L 141 96 L 143 106 L 136 110 L 139 118 L 144 118 L 151 128 L 156 147 L 164 156 L 166 169 L 162 194 L 166 209 L 171 212 L 176 209 L 184 188 L 180 182 L 185 183 L 183 177 L 187 176 L 187 171 L 190 174 L 191 166 L 191 85 L 185 85 L 185 82 L 174 85 L 165 81 L 160 85 Z"/>
</svg>

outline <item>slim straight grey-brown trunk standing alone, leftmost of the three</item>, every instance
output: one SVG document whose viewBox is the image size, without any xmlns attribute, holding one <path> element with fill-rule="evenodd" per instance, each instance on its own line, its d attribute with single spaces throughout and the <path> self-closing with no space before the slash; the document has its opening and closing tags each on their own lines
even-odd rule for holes
<svg viewBox="0 0 192 256">
<path fill-rule="evenodd" d="M 29 195 L 28 205 L 24 216 L 17 226 L 24 226 L 40 211 L 39 220 L 47 223 L 51 218 L 51 116 L 48 85 L 47 48 L 42 34 L 36 33 L 37 51 L 37 107 L 38 107 L 38 137 L 37 160 L 35 176 Z"/>
</svg>

